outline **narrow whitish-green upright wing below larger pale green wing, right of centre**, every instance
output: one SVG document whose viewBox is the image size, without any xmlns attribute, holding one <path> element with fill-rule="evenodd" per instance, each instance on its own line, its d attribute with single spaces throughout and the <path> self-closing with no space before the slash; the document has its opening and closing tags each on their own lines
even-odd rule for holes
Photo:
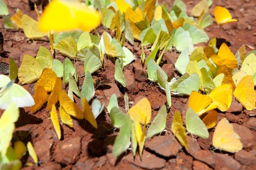
<svg viewBox="0 0 256 170">
<path fill-rule="evenodd" d="M 186 67 L 189 63 L 189 51 L 188 49 L 184 49 L 181 51 L 179 54 L 177 61 L 175 63 L 175 68 L 180 74 L 185 74 L 186 73 Z"/>
</svg>

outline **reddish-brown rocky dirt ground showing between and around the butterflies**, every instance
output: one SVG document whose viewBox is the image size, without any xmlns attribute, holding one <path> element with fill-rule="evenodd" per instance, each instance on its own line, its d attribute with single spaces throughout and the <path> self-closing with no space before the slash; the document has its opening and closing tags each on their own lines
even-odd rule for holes
<svg viewBox="0 0 256 170">
<path fill-rule="evenodd" d="M 24 14 L 36 18 L 36 13 L 29 10 L 27 0 L 6 0 L 10 15 L 13 15 L 17 8 Z M 174 0 L 159 0 L 165 2 L 170 7 Z M 187 5 L 187 12 L 190 14 L 192 7 L 199 0 L 184 0 Z M 230 45 L 231 51 L 236 53 L 238 48 L 244 44 L 247 50 L 256 48 L 256 0 L 214 0 L 210 8 L 213 16 L 216 5 L 225 6 L 238 22 L 229 23 L 223 27 L 217 26 L 216 22 L 205 29 L 210 38 L 216 36 L 219 45 L 225 41 Z M 99 27 L 99 34 L 105 29 Z M 40 46 L 49 49 L 47 39 L 40 41 L 27 40 L 21 31 L 7 31 L 3 27 L 0 18 L 0 32 L 4 36 L 5 57 L 0 57 L 0 61 L 9 61 L 8 57 L 14 58 L 20 67 L 24 54 L 36 56 Z M 114 35 L 115 33 L 111 33 Z M 201 44 L 204 45 L 204 44 Z M 161 105 L 166 103 L 165 94 L 158 85 L 147 80 L 146 70 L 142 70 L 139 56 L 141 47 L 138 42 L 134 46 L 125 43 L 125 47 L 131 50 L 137 59 L 124 68 L 124 75 L 127 88 L 123 89 L 114 80 L 115 64 L 106 59 L 104 69 L 101 68 L 93 74 L 97 80 L 96 96 L 100 102 L 107 105 L 110 96 L 116 93 L 119 106 L 124 110 L 124 93 L 127 93 L 130 102 L 138 101 L 142 96 L 148 98 L 152 105 L 153 118 Z M 146 56 L 150 53 L 145 49 Z M 174 63 L 178 54 L 174 51 L 166 51 L 163 56 L 161 67 L 166 71 L 169 78 L 172 78 L 177 71 Z M 57 55 L 63 60 L 63 56 Z M 83 83 L 83 65 L 78 63 L 79 88 Z M 34 85 L 24 85 L 32 95 Z M 66 88 L 66 87 L 64 87 Z M 79 99 L 75 97 L 77 103 Z M 246 111 L 241 104 L 235 100 L 231 108 L 223 113 L 218 111 L 218 120 L 223 117 L 233 123 L 236 133 L 241 137 L 243 150 L 238 153 L 220 153 L 211 146 L 214 129 L 210 130 L 208 139 L 189 138 L 189 151 L 182 149 L 171 133 L 171 122 L 176 110 L 184 113 L 187 109 L 188 97 L 172 96 L 172 107 L 168 111 L 166 132 L 161 136 L 155 136 L 145 143 L 143 156 L 140 159 L 137 155 L 134 159 L 132 152 L 123 154 L 115 159 L 112 155 L 112 147 L 117 132 L 111 126 L 111 121 L 105 112 L 97 118 L 98 129 L 94 129 L 84 120 L 74 119 L 74 128 L 61 125 L 62 138 L 58 139 L 53 124 L 49 119 L 50 113 L 43 107 L 35 114 L 29 112 L 29 108 L 20 109 L 20 119 L 16 123 L 15 137 L 20 137 L 24 142 L 32 141 L 36 153 L 39 157 L 39 165 L 26 166 L 33 160 L 28 155 L 22 158 L 23 170 L 139 170 L 139 169 L 162 169 L 162 170 L 255 170 L 256 169 L 256 110 Z M 132 104 L 130 104 L 132 106 Z M 106 108 L 104 111 L 107 111 Z M 0 111 L 0 114 L 2 111 Z M 152 118 L 152 119 L 153 119 Z"/>
</svg>

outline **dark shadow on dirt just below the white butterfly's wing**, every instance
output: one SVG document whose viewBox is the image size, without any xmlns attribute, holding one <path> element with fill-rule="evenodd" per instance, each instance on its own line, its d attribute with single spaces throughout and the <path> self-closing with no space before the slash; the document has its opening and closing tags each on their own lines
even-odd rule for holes
<svg viewBox="0 0 256 170">
<path fill-rule="evenodd" d="M 42 119 L 37 118 L 31 114 L 28 114 L 28 112 L 26 112 L 23 108 L 20 108 L 20 117 L 18 121 L 16 121 L 15 127 L 18 128 L 26 124 L 40 124 L 42 122 Z"/>
</svg>

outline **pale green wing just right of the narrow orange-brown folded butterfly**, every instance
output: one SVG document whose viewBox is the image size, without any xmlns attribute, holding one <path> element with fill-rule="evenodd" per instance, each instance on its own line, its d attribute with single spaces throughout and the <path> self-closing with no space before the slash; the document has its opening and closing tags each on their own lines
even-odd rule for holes
<svg viewBox="0 0 256 170">
<path fill-rule="evenodd" d="M 186 113 L 186 128 L 193 135 L 208 138 L 209 132 L 204 122 L 197 116 L 192 108 L 187 109 Z"/>
</svg>

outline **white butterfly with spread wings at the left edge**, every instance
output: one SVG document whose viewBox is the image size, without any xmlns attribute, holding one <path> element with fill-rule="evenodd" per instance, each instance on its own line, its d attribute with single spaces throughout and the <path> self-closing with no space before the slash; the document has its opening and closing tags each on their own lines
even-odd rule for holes
<svg viewBox="0 0 256 170">
<path fill-rule="evenodd" d="M 8 76 L 0 75 L 0 109 L 6 109 L 16 102 L 18 107 L 27 107 L 35 104 L 31 94 Z"/>
</svg>

